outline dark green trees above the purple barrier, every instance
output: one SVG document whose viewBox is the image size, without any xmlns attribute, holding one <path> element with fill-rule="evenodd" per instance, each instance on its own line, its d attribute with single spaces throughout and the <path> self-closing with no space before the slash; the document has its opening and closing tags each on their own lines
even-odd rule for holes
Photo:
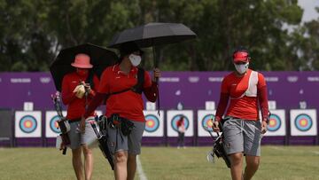
<svg viewBox="0 0 319 180">
<path fill-rule="evenodd" d="M 243 45 L 266 71 L 319 69 L 319 20 L 301 24 L 297 0 L 0 0 L 0 71 L 48 71 L 63 48 L 107 46 L 113 35 L 148 22 L 178 22 L 195 40 L 165 45 L 167 71 L 224 71 Z M 319 8 L 316 9 L 319 12 Z M 143 66 L 152 68 L 152 50 Z"/>
</svg>

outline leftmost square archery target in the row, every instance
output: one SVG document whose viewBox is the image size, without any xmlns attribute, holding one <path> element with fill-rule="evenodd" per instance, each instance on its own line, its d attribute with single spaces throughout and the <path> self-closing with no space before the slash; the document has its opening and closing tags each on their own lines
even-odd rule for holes
<svg viewBox="0 0 319 180">
<path fill-rule="evenodd" d="M 41 112 L 17 111 L 15 137 L 41 137 Z"/>
</svg>

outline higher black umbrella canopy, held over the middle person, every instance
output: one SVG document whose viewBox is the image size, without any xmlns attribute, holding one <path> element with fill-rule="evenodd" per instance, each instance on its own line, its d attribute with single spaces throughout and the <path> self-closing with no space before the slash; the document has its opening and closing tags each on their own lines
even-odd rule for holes
<svg viewBox="0 0 319 180">
<path fill-rule="evenodd" d="M 140 48 L 167 43 L 178 43 L 195 38 L 197 35 L 181 23 L 148 23 L 129 28 L 114 35 L 110 48 L 119 48 L 121 43 L 135 42 Z"/>
</svg>

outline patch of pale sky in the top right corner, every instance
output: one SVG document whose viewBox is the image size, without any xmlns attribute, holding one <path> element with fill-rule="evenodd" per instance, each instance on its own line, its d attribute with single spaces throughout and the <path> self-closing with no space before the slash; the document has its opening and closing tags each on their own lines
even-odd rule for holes
<svg viewBox="0 0 319 180">
<path fill-rule="evenodd" d="M 304 9 L 302 21 L 314 20 L 319 17 L 319 13 L 315 11 L 315 7 L 319 7 L 319 0 L 299 0 L 298 4 Z"/>
</svg>

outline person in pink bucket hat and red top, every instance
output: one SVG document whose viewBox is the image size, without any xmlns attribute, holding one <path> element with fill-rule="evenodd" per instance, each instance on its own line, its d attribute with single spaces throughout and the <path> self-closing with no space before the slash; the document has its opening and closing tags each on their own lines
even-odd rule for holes
<svg viewBox="0 0 319 180">
<path fill-rule="evenodd" d="M 75 176 L 83 179 L 82 152 L 84 154 L 84 175 L 85 179 L 90 179 L 93 172 L 93 154 L 89 144 L 97 139 L 94 130 L 91 128 L 90 121 L 94 121 L 95 113 L 89 113 L 85 121 L 85 132 L 79 130 L 79 123 L 85 106 L 92 99 L 98 89 L 99 80 L 96 75 L 90 73 L 89 69 L 93 66 L 89 63 L 87 54 L 77 54 L 74 63 L 75 71 L 66 74 L 62 81 L 62 101 L 67 105 L 66 119 L 70 123 L 68 137 L 72 149 L 72 162 Z M 87 92 L 87 93 L 86 93 Z"/>
</svg>

